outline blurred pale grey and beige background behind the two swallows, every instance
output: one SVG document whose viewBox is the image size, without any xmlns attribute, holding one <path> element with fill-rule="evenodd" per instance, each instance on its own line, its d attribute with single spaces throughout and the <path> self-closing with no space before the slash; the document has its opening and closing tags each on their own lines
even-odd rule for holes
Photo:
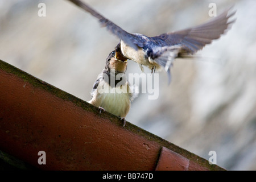
<svg viewBox="0 0 256 182">
<path fill-rule="evenodd" d="M 83 0 L 85 1 L 85 0 Z M 237 21 L 193 59 L 177 59 L 172 82 L 159 74 L 159 98 L 140 94 L 127 121 L 217 165 L 256 170 L 255 0 L 86 0 L 128 32 L 155 36 L 201 24 L 234 5 Z M 46 16 L 38 16 L 39 3 Z M 119 42 L 98 20 L 65 0 L 0 0 L 0 59 L 90 100 L 90 90 Z M 145 68 L 145 72 L 150 71 Z M 129 61 L 127 73 L 141 73 Z"/>
</svg>

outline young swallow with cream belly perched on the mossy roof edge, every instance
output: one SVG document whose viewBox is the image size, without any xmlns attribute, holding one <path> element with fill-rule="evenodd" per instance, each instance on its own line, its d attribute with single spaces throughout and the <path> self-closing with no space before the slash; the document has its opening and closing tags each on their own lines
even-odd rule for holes
<svg viewBox="0 0 256 182">
<path fill-rule="evenodd" d="M 106 59 L 105 69 L 98 75 L 91 92 L 90 104 L 98 107 L 101 111 L 108 111 L 117 115 L 126 125 L 126 115 L 131 106 L 131 101 L 137 94 L 135 87 L 127 81 L 125 72 L 126 60 L 115 59 L 115 51 L 109 53 Z"/>
</svg>

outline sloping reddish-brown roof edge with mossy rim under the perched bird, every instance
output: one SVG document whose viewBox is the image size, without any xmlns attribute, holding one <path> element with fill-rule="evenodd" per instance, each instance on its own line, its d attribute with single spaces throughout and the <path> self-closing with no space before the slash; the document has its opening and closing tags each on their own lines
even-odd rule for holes
<svg viewBox="0 0 256 182">
<path fill-rule="evenodd" d="M 0 150 L 39 169 L 224 170 L 1 60 L 0 138 Z"/>
</svg>

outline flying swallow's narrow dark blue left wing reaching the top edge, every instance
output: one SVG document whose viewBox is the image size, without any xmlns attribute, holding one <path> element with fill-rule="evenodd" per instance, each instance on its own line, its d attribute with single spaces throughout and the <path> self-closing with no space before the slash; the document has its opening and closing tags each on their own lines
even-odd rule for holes
<svg viewBox="0 0 256 182">
<path fill-rule="evenodd" d="M 117 24 L 111 22 L 110 20 L 106 19 L 101 14 L 97 13 L 97 11 L 93 10 L 92 7 L 86 5 L 84 2 L 80 0 L 68 0 L 73 2 L 75 5 L 81 7 L 85 11 L 88 11 L 94 17 L 100 20 L 101 26 L 106 27 L 112 34 L 118 36 L 119 39 L 123 40 L 126 44 L 130 47 L 133 47 L 135 50 L 138 47 L 143 47 L 143 39 L 139 38 L 138 35 L 130 34 L 129 32 L 123 30 L 121 27 L 117 26 Z"/>
</svg>

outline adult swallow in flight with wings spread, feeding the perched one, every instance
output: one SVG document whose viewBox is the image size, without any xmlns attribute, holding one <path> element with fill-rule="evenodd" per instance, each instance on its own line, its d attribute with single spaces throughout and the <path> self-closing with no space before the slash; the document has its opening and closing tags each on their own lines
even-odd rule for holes
<svg viewBox="0 0 256 182">
<path fill-rule="evenodd" d="M 235 20 L 230 20 L 230 17 L 236 13 L 236 11 L 229 13 L 230 9 L 228 9 L 199 26 L 148 37 L 142 34 L 130 34 L 80 0 L 69 1 L 98 18 L 103 27 L 121 39 L 116 49 L 117 53 L 120 52 L 115 55 L 117 59 L 133 60 L 139 64 L 142 71 L 142 65 L 150 68 L 151 72 L 164 68 L 168 73 L 169 83 L 171 80 L 170 68 L 175 58 L 193 55 L 206 44 L 210 44 L 212 40 L 220 38 L 225 30 L 228 30 L 234 23 Z"/>
</svg>

